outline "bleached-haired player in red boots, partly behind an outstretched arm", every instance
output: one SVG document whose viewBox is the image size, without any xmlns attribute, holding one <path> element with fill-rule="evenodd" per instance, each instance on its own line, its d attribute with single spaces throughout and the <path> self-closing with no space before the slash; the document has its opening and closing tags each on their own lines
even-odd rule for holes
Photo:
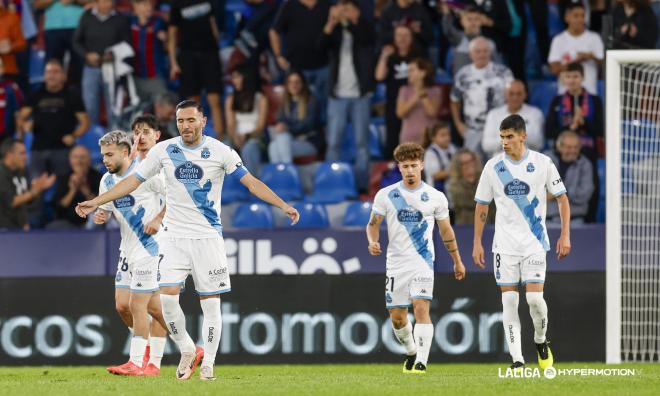
<svg viewBox="0 0 660 396">
<path fill-rule="evenodd" d="M 100 192 L 135 171 L 131 161 L 131 138 L 121 131 L 107 133 L 99 140 L 103 163 L 108 169 L 101 179 Z M 130 360 L 108 371 L 118 375 L 159 375 L 167 331 L 158 299 L 158 231 L 161 195 L 164 185 L 154 178 L 133 194 L 103 205 L 94 215 L 96 224 L 103 224 L 114 214 L 121 232 L 120 258 L 115 277 L 115 301 L 120 316 L 132 328 Z M 155 225 L 153 225 L 155 223 Z M 149 224 L 152 224 L 148 226 Z M 153 230 L 150 229 L 155 228 Z M 128 313 L 128 315 L 126 315 Z M 154 320 L 149 324 L 149 314 Z M 128 318 L 126 317 L 128 316 Z M 151 334 L 151 337 L 150 337 Z M 147 344 L 151 348 L 145 358 Z M 146 360 L 143 361 L 143 360 Z"/>
</svg>

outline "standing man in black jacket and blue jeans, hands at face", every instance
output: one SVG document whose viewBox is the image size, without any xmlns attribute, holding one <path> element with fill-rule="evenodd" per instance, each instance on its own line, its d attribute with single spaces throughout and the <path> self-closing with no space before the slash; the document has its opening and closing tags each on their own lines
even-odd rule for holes
<svg viewBox="0 0 660 396">
<path fill-rule="evenodd" d="M 323 27 L 330 51 L 328 149 L 326 159 L 339 161 L 347 120 L 351 120 L 357 153 L 355 180 L 366 189 L 369 172 L 369 115 L 374 91 L 374 31 L 356 0 L 340 0 L 330 8 Z"/>
</svg>

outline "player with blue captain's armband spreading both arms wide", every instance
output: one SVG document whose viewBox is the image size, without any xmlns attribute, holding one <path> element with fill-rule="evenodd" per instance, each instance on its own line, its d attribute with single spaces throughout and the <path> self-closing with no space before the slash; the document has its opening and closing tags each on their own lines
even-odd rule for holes
<svg viewBox="0 0 660 396">
<path fill-rule="evenodd" d="M 220 294 L 231 290 L 220 224 L 220 193 L 225 176 L 239 177 L 252 194 L 282 209 L 294 224 L 299 214 L 252 176 L 234 150 L 202 135 L 206 117 L 199 103 L 179 103 L 176 120 L 180 137 L 158 143 L 134 174 L 99 197 L 78 204 L 76 211 L 86 216 L 97 206 L 131 193 L 161 169 L 164 171 L 167 210 L 160 239 L 160 291 L 165 322 L 181 350 L 176 377 L 189 379 L 203 355 L 200 378 L 213 380 L 222 330 Z M 191 274 L 204 315 L 203 354 L 195 353 L 195 343 L 186 331 L 179 305 L 181 286 Z"/>
</svg>

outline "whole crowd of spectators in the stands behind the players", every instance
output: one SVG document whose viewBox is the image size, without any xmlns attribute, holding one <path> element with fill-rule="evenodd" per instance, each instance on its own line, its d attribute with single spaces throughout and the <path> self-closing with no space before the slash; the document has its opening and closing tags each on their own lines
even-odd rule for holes
<svg viewBox="0 0 660 396">
<path fill-rule="evenodd" d="M 660 48 L 659 19 L 658 0 L 0 0 L 0 230 L 84 227 L 98 137 L 145 112 L 177 136 L 184 98 L 251 172 L 349 162 L 363 200 L 423 144 L 459 224 L 519 114 L 573 220 L 602 221 L 604 51 Z"/>
</svg>

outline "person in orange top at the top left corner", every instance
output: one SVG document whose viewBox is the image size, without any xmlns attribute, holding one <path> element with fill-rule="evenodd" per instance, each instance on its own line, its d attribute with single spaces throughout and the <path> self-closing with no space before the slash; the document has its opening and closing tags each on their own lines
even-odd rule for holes
<svg viewBox="0 0 660 396">
<path fill-rule="evenodd" d="M 7 78 L 14 81 L 18 78 L 20 71 L 16 63 L 16 53 L 26 47 L 20 17 L 7 10 L 5 1 L 0 1 L 0 59 Z"/>
</svg>

